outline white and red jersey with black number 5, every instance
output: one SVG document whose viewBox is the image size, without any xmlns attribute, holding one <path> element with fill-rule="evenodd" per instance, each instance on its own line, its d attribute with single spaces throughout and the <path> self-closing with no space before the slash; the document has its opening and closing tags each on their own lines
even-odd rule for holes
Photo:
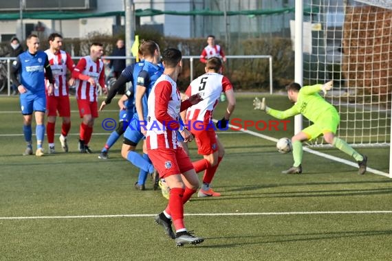
<svg viewBox="0 0 392 261">
<path fill-rule="evenodd" d="M 232 84 L 226 76 L 219 73 L 205 73 L 190 82 L 186 95 L 190 97 L 200 93 L 203 100 L 190 106 L 186 113 L 186 120 L 198 120 L 209 123 L 213 119 L 213 111 L 218 104 L 222 91 L 232 89 Z"/>
</svg>

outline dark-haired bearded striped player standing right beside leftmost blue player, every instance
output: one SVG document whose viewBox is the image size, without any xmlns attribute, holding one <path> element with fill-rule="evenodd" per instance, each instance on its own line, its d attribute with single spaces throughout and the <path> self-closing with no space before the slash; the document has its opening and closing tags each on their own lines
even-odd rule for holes
<svg viewBox="0 0 392 261">
<path fill-rule="evenodd" d="M 54 90 L 51 95 L 46 91 L 46 109 L 47 109 L 47 143 L 49 145 L 49 153 L 54 153 L 54 126 L 56 124 L 57 112 L 63 117 L 61 125 L 60 142 L 65 152 L 68 152 L 67 135 L 71 128 L 71 110 L 69 106 L 69 85 L 73 85 L 75 80 L 70 78 L 67 82 L 67 70 L 74 70 L 74 61 L 67 52 L 61 50 L 63 45 L 63 36 L 61 34 L 50 34 L 49 49 L 45 51 L 49 58 L 50 68 L 54 78 Z M 69 84 L 69 85 L 68 85 Z M 49 86 L 49 81 L 45 81 L 45 85 Z"/>
</svg>

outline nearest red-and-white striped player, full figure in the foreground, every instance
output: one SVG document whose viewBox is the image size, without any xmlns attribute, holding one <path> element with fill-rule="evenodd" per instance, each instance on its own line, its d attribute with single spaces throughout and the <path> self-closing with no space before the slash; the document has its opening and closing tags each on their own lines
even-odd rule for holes
<svg viewBox="0 0 392 261">
<path fill-rule="evenodd" d="M 146 148 L 160 178 L 164 178 L 170 188 L 170 196 L 166 209 L 155 216 L 155 222 L 164 227 L 177 246 L 199 244 L 204 238 L 189 234 L 184 225 L 184 203 L 197 191 L 199 180 L 188 155 L 178 144 L 176 132 L 179 112 L 202 99 L 199 95 L 193 95 L 181 101 L 175 83 L 182 70 L 182 54 L 178 49 L 166 49 L 162 60 L 164 74 L 155 82 L 148 100 Z M 181 135 L 184 141 L 193 139 L 186 128 L 182 129 Z M 176 234 L 171 228 L 171 220 Z"/>
</svg>

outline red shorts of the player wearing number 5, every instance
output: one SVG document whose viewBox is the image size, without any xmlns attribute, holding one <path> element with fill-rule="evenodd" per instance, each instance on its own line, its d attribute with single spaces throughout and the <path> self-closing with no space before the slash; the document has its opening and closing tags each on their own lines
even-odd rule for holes
<svg viewBox="0 0 392 261">
<path fill-rule="evenodd" d="M 210 155 L 218 150 L 217 134 L 212 126 L 204 125 L 201 130 L 193 129 L 199 155 Z"/>
</svg>

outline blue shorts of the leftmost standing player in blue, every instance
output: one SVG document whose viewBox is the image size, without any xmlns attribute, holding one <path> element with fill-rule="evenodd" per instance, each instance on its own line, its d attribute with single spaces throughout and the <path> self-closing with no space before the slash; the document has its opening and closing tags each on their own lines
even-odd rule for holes
<svg viewBox="0 0 392 261">
<path fill-rule="evenodd" d="M 23 115 L 30 115 L 34 111 L 46 111 L 46 95 L 45 92 L 42 93 L 21 93 L 21 111 Z"/>
</svg>

